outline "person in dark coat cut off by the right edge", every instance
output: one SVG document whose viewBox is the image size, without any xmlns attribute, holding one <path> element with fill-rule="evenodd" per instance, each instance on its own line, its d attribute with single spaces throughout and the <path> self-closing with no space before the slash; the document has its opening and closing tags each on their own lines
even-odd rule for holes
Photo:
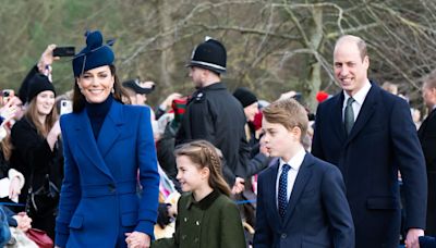
<svg viewBox="0 0 436 248">
<path fill-rule="evenodd" d="M 426 235 L 436 236 L 436 71 L 431 73 L 422 87 L 428 115 L 417 131 L 427 168 L 427 226 Z"/>
</svg>

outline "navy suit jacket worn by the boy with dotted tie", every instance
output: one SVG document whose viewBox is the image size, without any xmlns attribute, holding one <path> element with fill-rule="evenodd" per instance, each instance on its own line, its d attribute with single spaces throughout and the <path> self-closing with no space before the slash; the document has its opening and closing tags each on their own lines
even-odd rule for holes
<svg viewBox="0 0 436 248">
<path fill-rule="evenodd" d="M 256 248 L 354 247 L 354 227 L 340 171 L 306 153 L 284 218 L 277 210 L 279 162 L 257 181 Z"/>
</svg>

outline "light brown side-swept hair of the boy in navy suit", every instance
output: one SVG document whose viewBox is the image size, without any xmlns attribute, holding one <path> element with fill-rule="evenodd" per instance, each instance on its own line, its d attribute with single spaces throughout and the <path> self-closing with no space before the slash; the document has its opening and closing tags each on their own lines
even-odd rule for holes
<svg viewBox="0 0 436 248">
<path fill-rule="evenodd" d="M 307 111 L 294 99 L 275 101 L 263 110 L 263 114 L 267 122 L 280 124 L 288 131 L 295 126 L 299 127 L 301 129 L 301 141 L 307 133 Z"/>
</svg>

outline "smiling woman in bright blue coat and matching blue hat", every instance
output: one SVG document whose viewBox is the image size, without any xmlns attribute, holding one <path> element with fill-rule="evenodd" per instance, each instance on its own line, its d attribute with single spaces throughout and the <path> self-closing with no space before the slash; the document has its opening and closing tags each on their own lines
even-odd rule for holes
<svg viewBox="0 0 436 248">
<path fill-rule="evenodd" d="M 159 190 L 150 110 L 121 102 L 111 48 L 99 32 L 86 36 L 73 59 L 73 113 L 61 116 L 65 175 L 56 245 L 148 247 Z"/>
</svg>

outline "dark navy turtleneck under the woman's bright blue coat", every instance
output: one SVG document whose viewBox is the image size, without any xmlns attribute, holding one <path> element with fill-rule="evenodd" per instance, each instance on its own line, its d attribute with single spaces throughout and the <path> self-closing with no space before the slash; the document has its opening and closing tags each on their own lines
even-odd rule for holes
<svg viewBox="0 0 436 248">
<path fill-rule="evenodd" d="M 93 127 L 94 138 L 96 140 L 98 138 L 98 134 L 100 133 L 102 123 L 105 122 L 106 115 L 109 112 L 110 106 L 112 104 L 112 95 L 109 94 L 109 97 L 104 102 L 86 102 L 86 112 L 88 114 L 90 126 Z"/>
</svg>

